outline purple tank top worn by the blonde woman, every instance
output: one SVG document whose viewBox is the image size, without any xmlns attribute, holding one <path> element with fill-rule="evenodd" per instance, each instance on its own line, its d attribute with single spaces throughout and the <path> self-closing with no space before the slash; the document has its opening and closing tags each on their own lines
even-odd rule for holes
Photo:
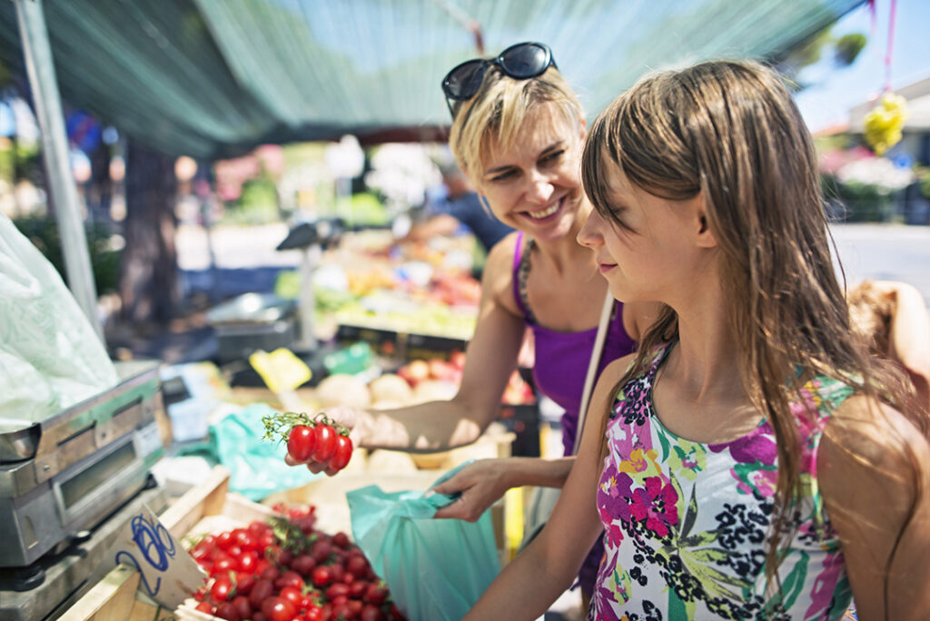
<svg viewBox="0 0 930 621">
<path fill-rule="evenodd" d="M 532 315 L 520 295 L 518 274 L 523 257 L 523 240 L 523 231 L 518 231 L 513 253 L 513 297 L 526 318 Z M 597 367 L 598 376 L 608 363 L 636 350 L 636 341 L 623 327 L 622 310 L 623 304 L 618 302 L 614 306 L 614 316 L 607 327 L 604 351 Z M 542 394 L 565 410 L 562 416 L 562 445 L 565 455 L 569 456 L 575 445 L 581 392 L 584 390 L 584 378 L 588 373 L 588 362 L 591 360 L 591 350 L 597 337 L 597 327 L 582 332 L 556 332 L 529 319 L 525 319 L 525 323 L 533 330 L 536 347 L 533 380 Z"/>
</svg>

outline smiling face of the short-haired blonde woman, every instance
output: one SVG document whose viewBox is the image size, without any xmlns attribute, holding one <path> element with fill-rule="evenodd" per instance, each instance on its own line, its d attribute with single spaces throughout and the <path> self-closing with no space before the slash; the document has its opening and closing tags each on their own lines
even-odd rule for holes
<svg viewBox="0 0 930 621">
<path fill-rule="evenodd" d="M 526 116 L 519 136 L 507 148 L 492 139 L 484 170 L 474 180 L 501 222 L 540 241 L 560 239 L 572 231 L 584 197 L 579 167 L 584 126 L 547 103 Z"/>
</svg>

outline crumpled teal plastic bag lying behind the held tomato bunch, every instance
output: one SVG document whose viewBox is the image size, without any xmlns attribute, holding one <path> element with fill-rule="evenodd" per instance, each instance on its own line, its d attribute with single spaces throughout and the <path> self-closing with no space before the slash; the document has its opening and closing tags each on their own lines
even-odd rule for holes
<svg viewBox="0 0 930 621">
<path fill-rule="evenodd" d="M 274 412 L 264 403 L 252 403 L 210 426 L 211 453 L 230 469 L 230 491 L 249 500 L 259 501 L 266 495 L 323 476 L 303 467 L 288 466 L 286 444 L 263 440 L 265 426 L 261 416 Z"/>
</svg>

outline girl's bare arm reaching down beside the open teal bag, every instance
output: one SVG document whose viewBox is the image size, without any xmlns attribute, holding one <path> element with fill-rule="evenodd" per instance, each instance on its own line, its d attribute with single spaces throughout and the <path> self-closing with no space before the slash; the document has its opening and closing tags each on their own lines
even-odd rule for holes
<svg viewBox="0 0 930 621">
<path fill-rule="evenodd" d="M 491 583 L 465 616 L 478 619 L 537 619 L 571 586 L 588 550 L 600 535 L 597 484 L 601 476 L 601 431 L 610 390 L 632 357 L 610 363 L 591 396 L 578 458 L 542 532 Z"/>
</svg>

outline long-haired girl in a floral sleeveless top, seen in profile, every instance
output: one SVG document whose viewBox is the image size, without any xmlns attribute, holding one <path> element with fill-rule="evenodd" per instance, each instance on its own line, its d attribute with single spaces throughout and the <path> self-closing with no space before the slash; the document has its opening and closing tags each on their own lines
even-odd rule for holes
<svg viewBox="0 0 930 621">
<path fill-rule="evenodd" d="M 623 301 L 659 300 L 608 366 L 542 534 L 468 619 L 533 619 L 591 541 L 589 619 L 930 611 L 927 413 L 851 336 L 810 136 L 777 76 L 644 79 L 591 128 L 578 235 Z"/>
</svg>

